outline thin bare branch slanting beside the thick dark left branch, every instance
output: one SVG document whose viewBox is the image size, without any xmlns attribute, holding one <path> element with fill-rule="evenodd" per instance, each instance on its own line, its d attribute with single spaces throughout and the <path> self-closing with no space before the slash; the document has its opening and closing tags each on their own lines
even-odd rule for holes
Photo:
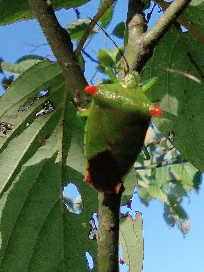
<svg viewBox="0 0 204 272">
<path fill-rule="evenodd" d="M 92 30 L 94 29 L 94 26 L 96 25 L 96 23 L 98 23 L 98 21 L 100 20 L 100 18 L 103 16 L 103 14 L 115 3 L 116 0 L 107 0 L 103 6 L 98 10 L 98 12 L 96 13 L 96 15 L 93 18 L 93 21 L 91 21 L 88 25 L 88 27 L 86 28 L 81 40 L 79 41 L 79 44 L 75 50 L 75 55 L 78 58 L 82 48 L 84 47 L 84 44 L 86 42 L 86 40 L 88 39 L 90 33 L 92 32 Z"/>
</svg>

